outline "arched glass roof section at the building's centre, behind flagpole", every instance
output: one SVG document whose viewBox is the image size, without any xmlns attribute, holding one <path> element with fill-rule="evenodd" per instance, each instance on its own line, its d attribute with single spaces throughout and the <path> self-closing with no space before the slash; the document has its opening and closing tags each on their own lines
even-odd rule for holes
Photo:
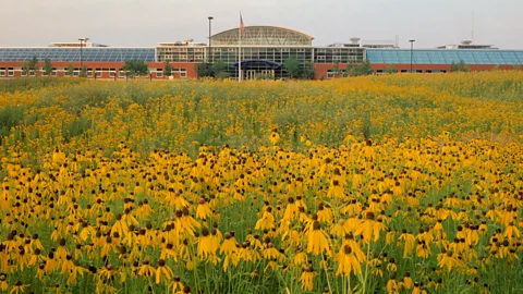
<svg viewBox="0 0 523 294">
<path fill-rule="evenodd" d="M 211 36 L 215 46 L 238 46 L 240 28 L 231 28 Z M 294 29 L 268 26 L 245 26 L 242 45 L 250 46 L 313 46 L 314 37 Z"/>
</svg>

